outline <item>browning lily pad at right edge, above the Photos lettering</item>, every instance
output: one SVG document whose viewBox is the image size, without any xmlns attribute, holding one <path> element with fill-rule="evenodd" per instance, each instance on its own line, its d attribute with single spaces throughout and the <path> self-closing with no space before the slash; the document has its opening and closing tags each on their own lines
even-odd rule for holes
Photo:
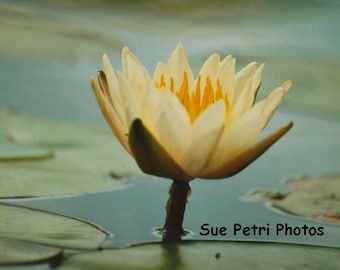
<svg viewBox="0 0 340 270">
<path fill-rule="evenodd" d="M 340 224 L 340 176 L 289 179 L 291 191 L 281 194 L 256 191 L 252 197 L 269 200 L 273 207 L 285 212 L 324 222 Z"/>
</svg>

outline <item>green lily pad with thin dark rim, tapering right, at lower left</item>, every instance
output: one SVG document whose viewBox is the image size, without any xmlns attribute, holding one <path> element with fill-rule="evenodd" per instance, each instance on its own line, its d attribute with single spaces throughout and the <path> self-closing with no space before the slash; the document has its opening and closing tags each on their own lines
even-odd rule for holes
<svg viewBox="0 0 340 270">
<path fill-rule="evenodd" d="M 4 203 L 0 203 L 0 213 L 0 238 L 63 248 L 95 249 L 109 235 L 89 222 L 61 214 Z M 1 242 L 0 247 L 4 248 Z"/>
</svg>

